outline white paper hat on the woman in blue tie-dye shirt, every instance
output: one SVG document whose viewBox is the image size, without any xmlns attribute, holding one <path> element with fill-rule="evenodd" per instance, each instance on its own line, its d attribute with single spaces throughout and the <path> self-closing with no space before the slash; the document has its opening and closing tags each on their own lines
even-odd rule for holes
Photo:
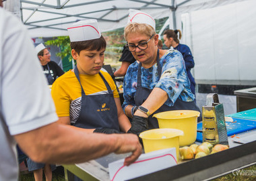
<svg viewBox="0 0 256 181">
<path fill-rule="evenodd" d="M 129 9 L 128 23 L 146 23 L 156 29 L 155 19 L 151 15 L 136 9 Z"/>
</svg>

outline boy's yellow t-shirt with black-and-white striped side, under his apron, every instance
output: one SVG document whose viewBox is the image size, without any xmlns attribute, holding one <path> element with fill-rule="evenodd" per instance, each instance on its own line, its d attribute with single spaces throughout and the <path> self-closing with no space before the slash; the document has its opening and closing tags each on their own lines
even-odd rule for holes
<svg viewBox="0 0 256 181">
<path fill-rule="evenodd" d="M 110 84 L 115 98 L 119 99 L 117 87 L 107 72 L 100 71 L 106 81 Z M 80 74 L 82 86 L 86 95 L 100 95 L 106 93 L 106 86 L 99 74 Z M 68 80 L 68 81 L 67 81 Z M 81 86 L 75 77 L 73 70 L 69 70 L 63 76 L 57 78 L 52 86 L 51 94 L 55 102 L 58 117 L 70 117 L 70 123 L 75 123 L 79 105 L 81 105 Z"/>
</svg>

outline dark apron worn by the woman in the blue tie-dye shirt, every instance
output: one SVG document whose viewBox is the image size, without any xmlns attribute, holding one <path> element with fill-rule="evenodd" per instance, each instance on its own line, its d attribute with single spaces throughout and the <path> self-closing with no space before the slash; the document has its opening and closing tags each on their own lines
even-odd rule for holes
<svg viewBox="0 0 256 181">
<path fill-rule="evenodd" d="M 159 50 L 158 50 L 156 62 L 158 66 L 158 80 L 160 80 L 160 77 L 162 74 L 162 67 L 160 65 L 160 60 L 159 60 Z M 148 99 L 148 96 L 150 95 L 151 92 L 152 92 L 152 89 L 141 86 L 141 63 L 139 63 L 138 72 L 137 72 L 137 90 L 134 97 L 135 105 L 136 106 L 142 105 L 142 103 L 146 101 L 146 99 Z M 199 108 L 195 104 L 195 101 L 186 102 L 186 101 L 181 101 L 181 99 L 178 98 L 172 107 L 169 107 L 168 105 L 164 104 L 154 113 L 152 113 L 149 117 L 148 128 L 149 129 L 159 128 L 156 117 L 152 117 L 152 115 L 154 115 L 155 113 L 172 111 L 172 110 L 195 110 L 200 112 Z"/>
</svg>

